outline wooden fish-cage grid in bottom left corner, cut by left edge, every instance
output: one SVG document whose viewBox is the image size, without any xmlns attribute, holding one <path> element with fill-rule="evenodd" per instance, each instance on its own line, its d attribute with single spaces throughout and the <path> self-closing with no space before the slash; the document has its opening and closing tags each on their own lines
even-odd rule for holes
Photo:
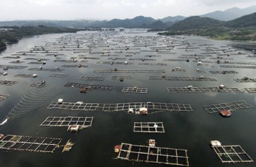
<svg viewBox="0 0 256 167">
<path fill-rule="evenodd" d="M 0 140 L 0 149 L 53 153 L 61 141 L 61 138 L 7 135 Z"/>
</svg>

